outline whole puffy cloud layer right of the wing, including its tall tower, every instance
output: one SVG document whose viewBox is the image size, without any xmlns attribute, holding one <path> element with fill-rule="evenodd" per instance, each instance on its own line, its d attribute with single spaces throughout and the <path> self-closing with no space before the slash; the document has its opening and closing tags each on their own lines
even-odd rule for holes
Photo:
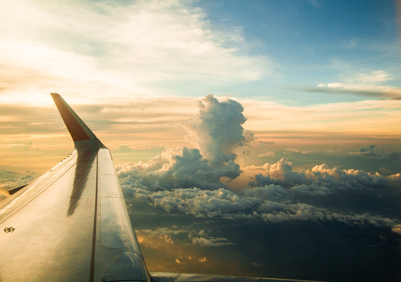
<svg viewBox="0 0 401 282">
<path fill-rule="evenodd" d="M 169 213 L 200 218 L 249 219 L 266 222 L 288 220 L 338 221 L 353 225 L 391 227 L 395 218 L 373 214 L 340 212 L 308 204 L 303 199 L 330 197 L 344 191 L 386 189 L 401 185 L 401 175 L 388 177 L 362 170 L 341 170 L 326 164 L 294 170 L 287 158 L 263 166 L 239 169 L 233 150 L 253 140 L 253 133 L 241 126 L 245 122 L 241 104 L 233 100 L 219 102 L 209 95 L 199 104 L 195 119 L 184 123 L 186 139 L 196 148 L 166 149 L 147 163 L 118 167 L 124 195 L 129 203 L 147 203 Z M 366 146 L 360 152 L 371 152 Z M 301 152 L 288 149 L 290 152 Z M 314 153 L 305 151 L 303 154 Z M 268 152 L 269 155 L 272 152 Z M 267 153 L 265 153 L 266 155 Z M 243 173 L 250 177 L 248 186 L 229 190 L 222 178 L 235 179 Z M 227 184 L 227 185 L 226 185 Z M 195 238 L 194 243 L 224 243 Z"/>
</svg>

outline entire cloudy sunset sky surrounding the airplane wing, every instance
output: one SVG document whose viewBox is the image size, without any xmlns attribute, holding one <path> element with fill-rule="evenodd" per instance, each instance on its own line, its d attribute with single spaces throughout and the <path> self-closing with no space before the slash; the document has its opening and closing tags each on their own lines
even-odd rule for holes
<svg viewBox="0 0 401 282">
<path fill-rule="evenodd" d="M 400 279 L 398 11 L 3 1 L 0 200 L 73 150 L 57 92 L 110 148 L 148 269 Z"/>
</svg>

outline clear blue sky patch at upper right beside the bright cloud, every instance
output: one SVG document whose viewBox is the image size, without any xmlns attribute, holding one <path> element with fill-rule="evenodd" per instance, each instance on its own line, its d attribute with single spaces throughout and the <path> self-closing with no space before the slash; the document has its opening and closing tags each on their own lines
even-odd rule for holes
<svg viewBox="0 0 401 282">
<path fill-rule="evenodd" d="M 270 58 L 265 78 L 229 89 L 238 96 L 320 104 L 362 100 L 355 95 L 299 92 L 384 70 L 399 87 L 397 4 L 377 1 L 200 1 L 212 25 L 238 29 L 246 52 Z M 227 86 L 224 88 L 227 91 Z M 293 91 L 290 89 L 294 89 Z M 244 94 L 247 93 L 247 94 Z M 376 97 L 379 98 L 379 97 Z M 263 99 L 263 98 L 262 98 Z"/>
</svg>

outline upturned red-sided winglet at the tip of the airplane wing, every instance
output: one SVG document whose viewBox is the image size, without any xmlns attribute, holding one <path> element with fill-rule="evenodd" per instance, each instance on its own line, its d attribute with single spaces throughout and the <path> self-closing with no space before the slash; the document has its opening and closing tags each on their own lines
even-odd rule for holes
<svg viewBox="0 0 401 282">
<path fill-rule="evenodd" d="M 105 148 L 105 146 L 96 138 L 89 127 L 75 114 L 74 110 L 57 93 L 50 93 L 61 117 L 67 126 L 68 131 L 73 138 L 75 149 L 79 147 Z"/>
</svg>

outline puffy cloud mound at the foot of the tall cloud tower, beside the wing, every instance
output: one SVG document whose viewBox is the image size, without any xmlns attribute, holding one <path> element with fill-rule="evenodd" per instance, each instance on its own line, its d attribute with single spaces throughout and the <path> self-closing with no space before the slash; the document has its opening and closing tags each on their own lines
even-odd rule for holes
<svg viewBox="0 0 401 282">
<path fill-rule="evenodd" d="M 124 186 L 166 190 L 176 187 L 225 187 L 220 178 L 236 178 L 239 165 L 233 160 L 218 168 L 209 166 L 199 150 L 194 148 L 166 149 L 149 162 L 128 163 L 117 167 L 120 183 Z"/>
</svg>

